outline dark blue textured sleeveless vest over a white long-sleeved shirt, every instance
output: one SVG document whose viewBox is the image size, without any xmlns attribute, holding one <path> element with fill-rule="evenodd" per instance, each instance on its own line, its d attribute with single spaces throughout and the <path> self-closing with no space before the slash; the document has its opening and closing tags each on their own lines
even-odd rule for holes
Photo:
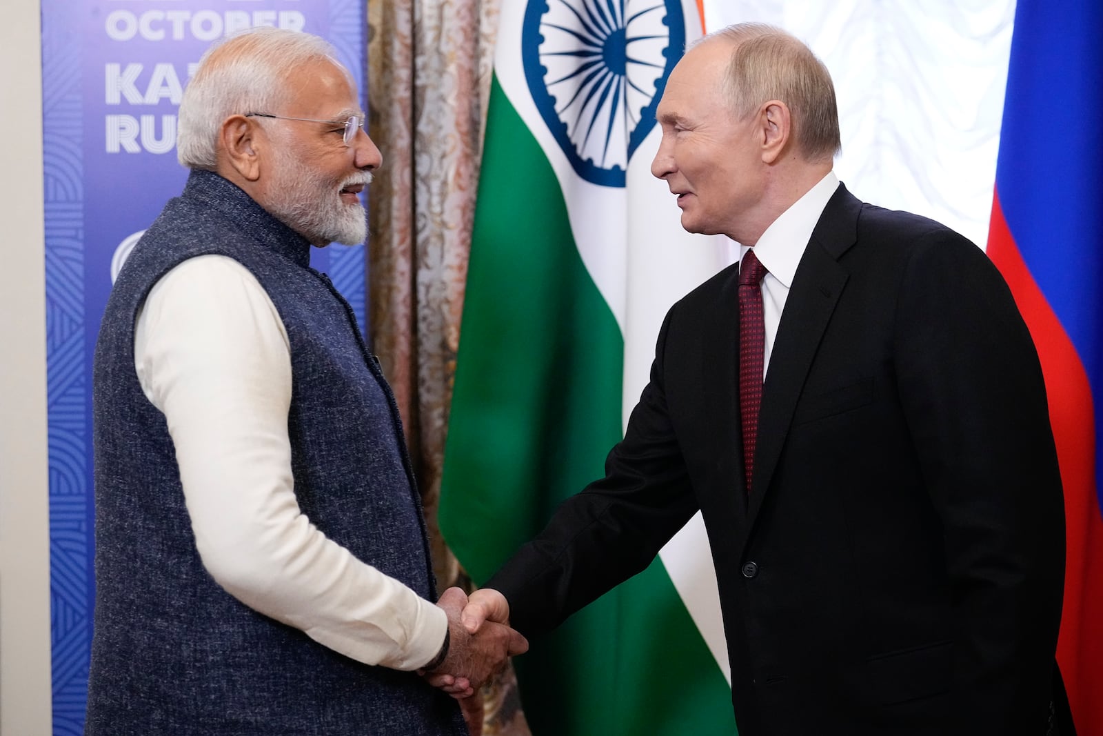
<svg viewBox="0 0 1103 736">
<path fill-rule="evenodd" d="M 87 734 L 467 734 L 413 672 L 362 664 L 263 616 L 203 568 L 164 416 L 142 393 L 133 326 L 181 262 L 234 258 L 279 311 L 302 512 L 356 557 L 435 599 L 421 506 L 390 390 L 310 245 L 225 179 L 193 172 L 111 291 L 94 369 L 96 611 Z"/>
</svg>

